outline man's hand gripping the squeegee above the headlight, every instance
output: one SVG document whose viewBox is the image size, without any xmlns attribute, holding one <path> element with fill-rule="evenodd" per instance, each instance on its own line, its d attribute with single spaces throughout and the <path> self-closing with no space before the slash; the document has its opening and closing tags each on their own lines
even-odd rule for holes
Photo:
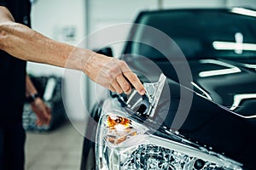
<svg viewBox="0 0 256 170">
<path fill-rule="evenodd" d="M 131 86 L 136 88 L 139 94 L 145 94 L 142 82 L 125 61 L 94 54 L 84 65 L 84 72 L 94 82 L 118 94 L 130 94 Z"/>
</svg>

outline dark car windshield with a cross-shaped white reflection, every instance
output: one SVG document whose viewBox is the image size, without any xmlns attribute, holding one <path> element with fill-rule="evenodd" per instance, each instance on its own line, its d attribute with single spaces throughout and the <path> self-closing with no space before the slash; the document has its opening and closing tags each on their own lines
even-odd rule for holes
<svg viewBox="0 0 256 170">
<path fill-rule="evenodd" d="M 256 56 L 256 17 L 236 14 L 232 10 L 183 9 L 145 12 L 140 15 L 137 23 L 165 32 L 176 42 L 187 59 L 255 59 Z M 140 43 L 159 43 L 155 37 L 150 39 L 150 33 L 140 27 L 142 26 L 137 26 L 132 31 L 133 41 L 128 42 L 125 53 L 163 59 L 163 53 Z M 164 54 L 172 53 L 170 46 L 165 44 Z"/>
</svg>

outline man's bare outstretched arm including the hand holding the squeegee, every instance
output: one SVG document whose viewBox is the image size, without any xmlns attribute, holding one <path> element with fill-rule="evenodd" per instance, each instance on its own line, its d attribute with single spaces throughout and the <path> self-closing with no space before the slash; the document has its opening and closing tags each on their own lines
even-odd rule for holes
<svg viewBox="0 0 256 170">
<path fill-rule="evenodd" d="M 1 6 L 0 49 L 19 59 L 83 71 L 94 82 L 119 94 L 131 93 L 131 85 L 140 94 L 145 93 L 143 84 L 124 61 L 44 37 L 15 23 L 9 10 Z"/>
</svg>

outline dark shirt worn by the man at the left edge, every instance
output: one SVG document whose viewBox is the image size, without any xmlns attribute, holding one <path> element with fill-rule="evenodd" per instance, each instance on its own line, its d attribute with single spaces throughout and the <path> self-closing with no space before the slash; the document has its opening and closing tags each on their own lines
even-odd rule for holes
<svg viewBox="0 0 256 170">
<path fill-rule="evenodd" d="M 30 26 L 29 0 L 0 0 L 15 22 Z M 26 61 L 0 50 L 0 126 L 22 121 L 26 90 Z"/>
</svg>

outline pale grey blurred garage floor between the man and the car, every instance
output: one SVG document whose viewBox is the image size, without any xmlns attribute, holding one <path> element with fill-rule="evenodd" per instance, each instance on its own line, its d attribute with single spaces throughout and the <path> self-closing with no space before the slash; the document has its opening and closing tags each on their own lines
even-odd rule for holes
<svg viewBox="0 0 256 170">
<path fill-rule="evenodd" d="M 26 170 L 79 170 L 83 136 L 67 123 L 49 133 L 26 133 Z"/>
</svg>

